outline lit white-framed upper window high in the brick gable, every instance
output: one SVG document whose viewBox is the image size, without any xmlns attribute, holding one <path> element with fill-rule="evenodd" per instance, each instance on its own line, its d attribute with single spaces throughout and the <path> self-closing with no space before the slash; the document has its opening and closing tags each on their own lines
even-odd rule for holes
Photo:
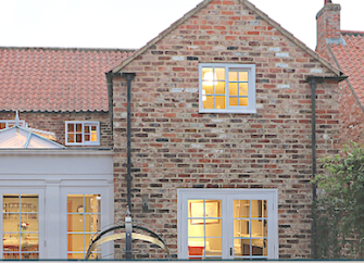
<svg viewBox="0 0 364 263">
<path fill-rule="evenodd" d="M 200 113 L 256 113 L 254 64 L 199 64 Z"/>
</svg>

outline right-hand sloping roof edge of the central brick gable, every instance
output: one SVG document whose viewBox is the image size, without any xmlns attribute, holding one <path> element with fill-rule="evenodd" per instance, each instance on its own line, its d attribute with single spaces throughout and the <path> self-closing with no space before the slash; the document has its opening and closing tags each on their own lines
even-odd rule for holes
<svg viewBox="0 0 364 263">
<path fill-rule="evenodd" d="M 332 71 L 336 75 L 341 76 L 343 75 L 342 72 L 340 72 L 338 68 L 334 67 L 328 61 L 326 61 L 323 57 L 321 57 L 318 53 L 310 49 L 307 46 L 305 46 L 301 40 L 296 38 L 291 33 L 283 28 L 277 22 L 272 20 L 269 16 L 267 16 L 265 13 L 260 11 L 254 4 L 250 3 L 248 0 L 240 0 L 243 4 L 246 4 L 248 8 L 253 10 L 258 15 L 260 15 L 263 20 L 265 20 L 267 23 L 273 25 L 277 30 L 279 30 L 285 37 L 287 37 L 289 40 L 294 42 L 297 46 L 302 48 L 304 51 L 306 51 L 309 54 L 311 54 L 313 58 L 315 58 L 318 62 L 324 64 L 326 67 L 328 67 L 330 71 Z"/>
</svg>

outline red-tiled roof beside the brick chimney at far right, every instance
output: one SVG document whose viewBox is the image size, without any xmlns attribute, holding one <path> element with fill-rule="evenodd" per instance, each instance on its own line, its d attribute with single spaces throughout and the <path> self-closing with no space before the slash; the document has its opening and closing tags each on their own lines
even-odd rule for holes
<svg viewBox="0 0 364 263">
<path fill-rule="evenodd" d="M 364 32 L 341 30 L 341 43 L 328 45 L 335 62 L 349 76 L 348 82 L 364 105 Z"/>
</svg>

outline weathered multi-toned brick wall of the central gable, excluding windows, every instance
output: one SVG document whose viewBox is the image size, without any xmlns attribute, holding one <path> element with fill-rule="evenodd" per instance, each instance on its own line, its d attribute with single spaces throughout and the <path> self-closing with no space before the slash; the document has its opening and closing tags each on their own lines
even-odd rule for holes
<svg viewBox="0 0 364 263">
<path fill-rule="evenodd" d="M 199 114 L 199 63 L 254 63 L 258 113 Z M 310 258 L 311 87 L 304 79 L 332 73 L 238 0 L 211 2 L 123 72 L 137 74 L 131 84 L 136 221 L 162 233 L 176 258 L 178 188 L 277 188 L 279 256 Z M 126 80 L 115 77 L 113 87 L 118 221 L 126 206 Z M 319 158 L 338 152 L 338 88 L 321 84 L 316 92 Z"/>
</svg>

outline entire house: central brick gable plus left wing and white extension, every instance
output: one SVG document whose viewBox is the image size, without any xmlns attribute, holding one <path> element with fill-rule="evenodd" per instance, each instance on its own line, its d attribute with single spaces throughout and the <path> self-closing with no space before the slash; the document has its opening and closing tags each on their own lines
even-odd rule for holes
<svg viewBox="0 0 364 263">
<path fill-rule="evenodd" d="M 343 74 L 249 1 L 204 0 L 135 53 L 0 52 L 0 127 L 20 111 L 67 148 L 0 150 L 3 259 L 83 258 L 126 204 L 173 258 L 310 258 L 311 176 L 338 152 Z"/>
</svg>

